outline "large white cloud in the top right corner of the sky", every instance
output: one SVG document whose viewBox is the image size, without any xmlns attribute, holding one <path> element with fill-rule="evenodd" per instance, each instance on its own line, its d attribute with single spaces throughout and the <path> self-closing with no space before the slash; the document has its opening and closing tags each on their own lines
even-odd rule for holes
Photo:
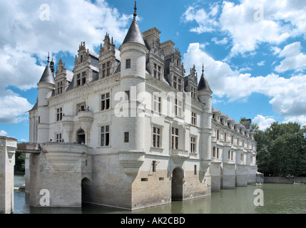
<svg viewBox="0 0 306 228">
<path fill-rule="evenodd" d="M 242 0 L 239 4 L 223 1 L 220 16 L 213 10 L 190 6 L 183 18 L 195 21 L 190 31 L 228 34 L 232 42 L 230 56 L 252 53 L 261 43 L 278 45 L 287 38 L 306 37 L 306 8 L 303 0 Z M 276 50 L 275 50 L 276 51 Z"/>
</svg>

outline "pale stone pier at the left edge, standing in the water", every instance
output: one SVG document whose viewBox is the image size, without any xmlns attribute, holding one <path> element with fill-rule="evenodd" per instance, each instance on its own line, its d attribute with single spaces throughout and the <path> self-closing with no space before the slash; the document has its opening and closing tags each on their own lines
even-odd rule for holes
<svg viewBox="0 0 306 228">
<path fill-rule="evenodd" d="M 14 165 L 17 140 L 0 136 L 0 214 L 14 212 Z"/>
</svg>

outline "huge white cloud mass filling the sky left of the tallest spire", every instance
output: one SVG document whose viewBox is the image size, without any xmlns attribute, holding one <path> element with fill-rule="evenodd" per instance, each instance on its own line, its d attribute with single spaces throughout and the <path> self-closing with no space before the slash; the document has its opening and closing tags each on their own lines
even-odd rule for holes
<svg viewBox="0 0 306 228">
<path fill-rule="evenodd" d="M 18 123 L 33 105 L 13 93 L 35 88 L 44 72 L 48 52 L 76 55 L 100 46 L 106 32 L 122 43 L 131 15 L 119 14 L 104 0 L 48 1 L 50 20 L 41 21 L 41 1 L 0 1 L 0 123 Z"/>
</svg>

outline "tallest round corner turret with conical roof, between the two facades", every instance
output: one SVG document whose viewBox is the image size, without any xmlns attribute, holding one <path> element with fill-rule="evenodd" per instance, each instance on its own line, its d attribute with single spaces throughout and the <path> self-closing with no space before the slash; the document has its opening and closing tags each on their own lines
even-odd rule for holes
<svg viewBox="0 0 306 228">
<path fill-rule="evenodd" d="M 145 118 L 138 110 L 138 95 L 146 91 L 146 48 L 143 36 L 136 20 L 136 1 L 134 18 L 126 38 L 119 50 L 121 51 L 121 92 L 128 93 L 128 117 L 121 117 L 121 150 L 143 151 L 145 145 Z M 124 135 L 123 135 L 124 134 Z M 128 143 L 123 138 L 128 134 Z"/>
</svg>

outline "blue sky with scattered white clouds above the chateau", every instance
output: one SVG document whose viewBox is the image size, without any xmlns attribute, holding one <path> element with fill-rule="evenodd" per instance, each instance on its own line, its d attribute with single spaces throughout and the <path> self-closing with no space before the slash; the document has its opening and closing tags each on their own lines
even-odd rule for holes
<svg viewBox="0 0 306 228">
<path fill-rule="evenodd" d="M 0 135 L 29 141 L 29 110 L 48 53 L 73 71 L 81 42 L 121 46 L 133 0 L 0 1 Z M 235 120 L 306 125 L 305 0 L 138 0 L 141 31 L 172 40 L 185 67 L 202 66 L 213 106 Z"/>
</svg>

